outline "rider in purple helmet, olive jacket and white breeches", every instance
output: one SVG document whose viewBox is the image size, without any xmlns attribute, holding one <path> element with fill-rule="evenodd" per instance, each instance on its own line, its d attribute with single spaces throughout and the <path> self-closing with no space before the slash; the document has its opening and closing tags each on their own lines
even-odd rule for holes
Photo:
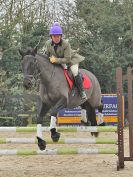
<svg viewBox="0 0 133 177">
<path fill-rule="evenodd" d="M 79 62 L 84 60 L 84 57 L 75 53 L 68 41 L 62 39 L 62 28 L 58 22 L 55 22 L 50 28 L 49 35 L 51 37 L 45 44 L 46 54 L 51 63 L 61 64 L 65 69 L 70 66 L 75 79 L 76 87 L 83 100 L 87 100 L 86 93 L 83 89 L 82 76 L 79 73 Z"/>
</svg>

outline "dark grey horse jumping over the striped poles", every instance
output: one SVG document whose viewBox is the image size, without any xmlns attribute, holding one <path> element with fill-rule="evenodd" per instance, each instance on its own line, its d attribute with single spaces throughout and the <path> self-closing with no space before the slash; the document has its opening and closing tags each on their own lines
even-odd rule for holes
<svg viewBox="0 0 133 177">
<path fill-rule="evenodd" d="M 26 89 L 31 89 L 33 79 L 40 79 L 37 115 L 37 140 L 40 150 L 46 148 L 46 141 L 42 137 L 41 127 L 43 117 L 45 117 L 49 110 L 51 110 L 50 116 L 52 121 L 52 118 L 56 117 L 61 109 L 81 106 L 82 109 L 86 109 L 87 123 L 90 122 L 91 126 L 97 126 L 95 109 L 102 105 L 101 88 L 98 79 L 92 72 L 80 69 L 80 72 L 85 74 L 91 82 L 91 87 L 85 89 L 87 100 L 84 101 L 81 99 L 75 84 L 70 89 L 61 65 L 52 64 L 48 56 L 38 54 L 36 48 L 25 51 L 19 50 L 19 53 L 22 56 L 23 86 Z M 54 119 L 54 121 L 56 120 Z M 56 122 L 54 122 L 54 127 L 50 131 L 52 140 L 58 141 L 60 133 L 56 130 Z M 91 134 L 95 137 L 98 136 L 98 132 L 91 132 Z"/>
</svg>

